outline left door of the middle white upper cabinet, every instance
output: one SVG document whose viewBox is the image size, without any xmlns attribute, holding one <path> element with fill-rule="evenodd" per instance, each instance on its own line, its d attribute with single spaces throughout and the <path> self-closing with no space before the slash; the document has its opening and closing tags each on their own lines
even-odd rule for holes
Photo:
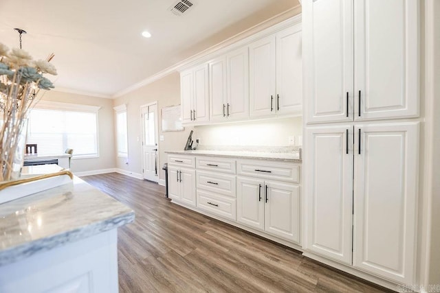
<svg viewBox="0 0 440 293">
<path fill-rule="evenodd" d="M 226 58 L 209 64 L 210 121 L 223 121 L 226 117 Z"/>
</svg>

